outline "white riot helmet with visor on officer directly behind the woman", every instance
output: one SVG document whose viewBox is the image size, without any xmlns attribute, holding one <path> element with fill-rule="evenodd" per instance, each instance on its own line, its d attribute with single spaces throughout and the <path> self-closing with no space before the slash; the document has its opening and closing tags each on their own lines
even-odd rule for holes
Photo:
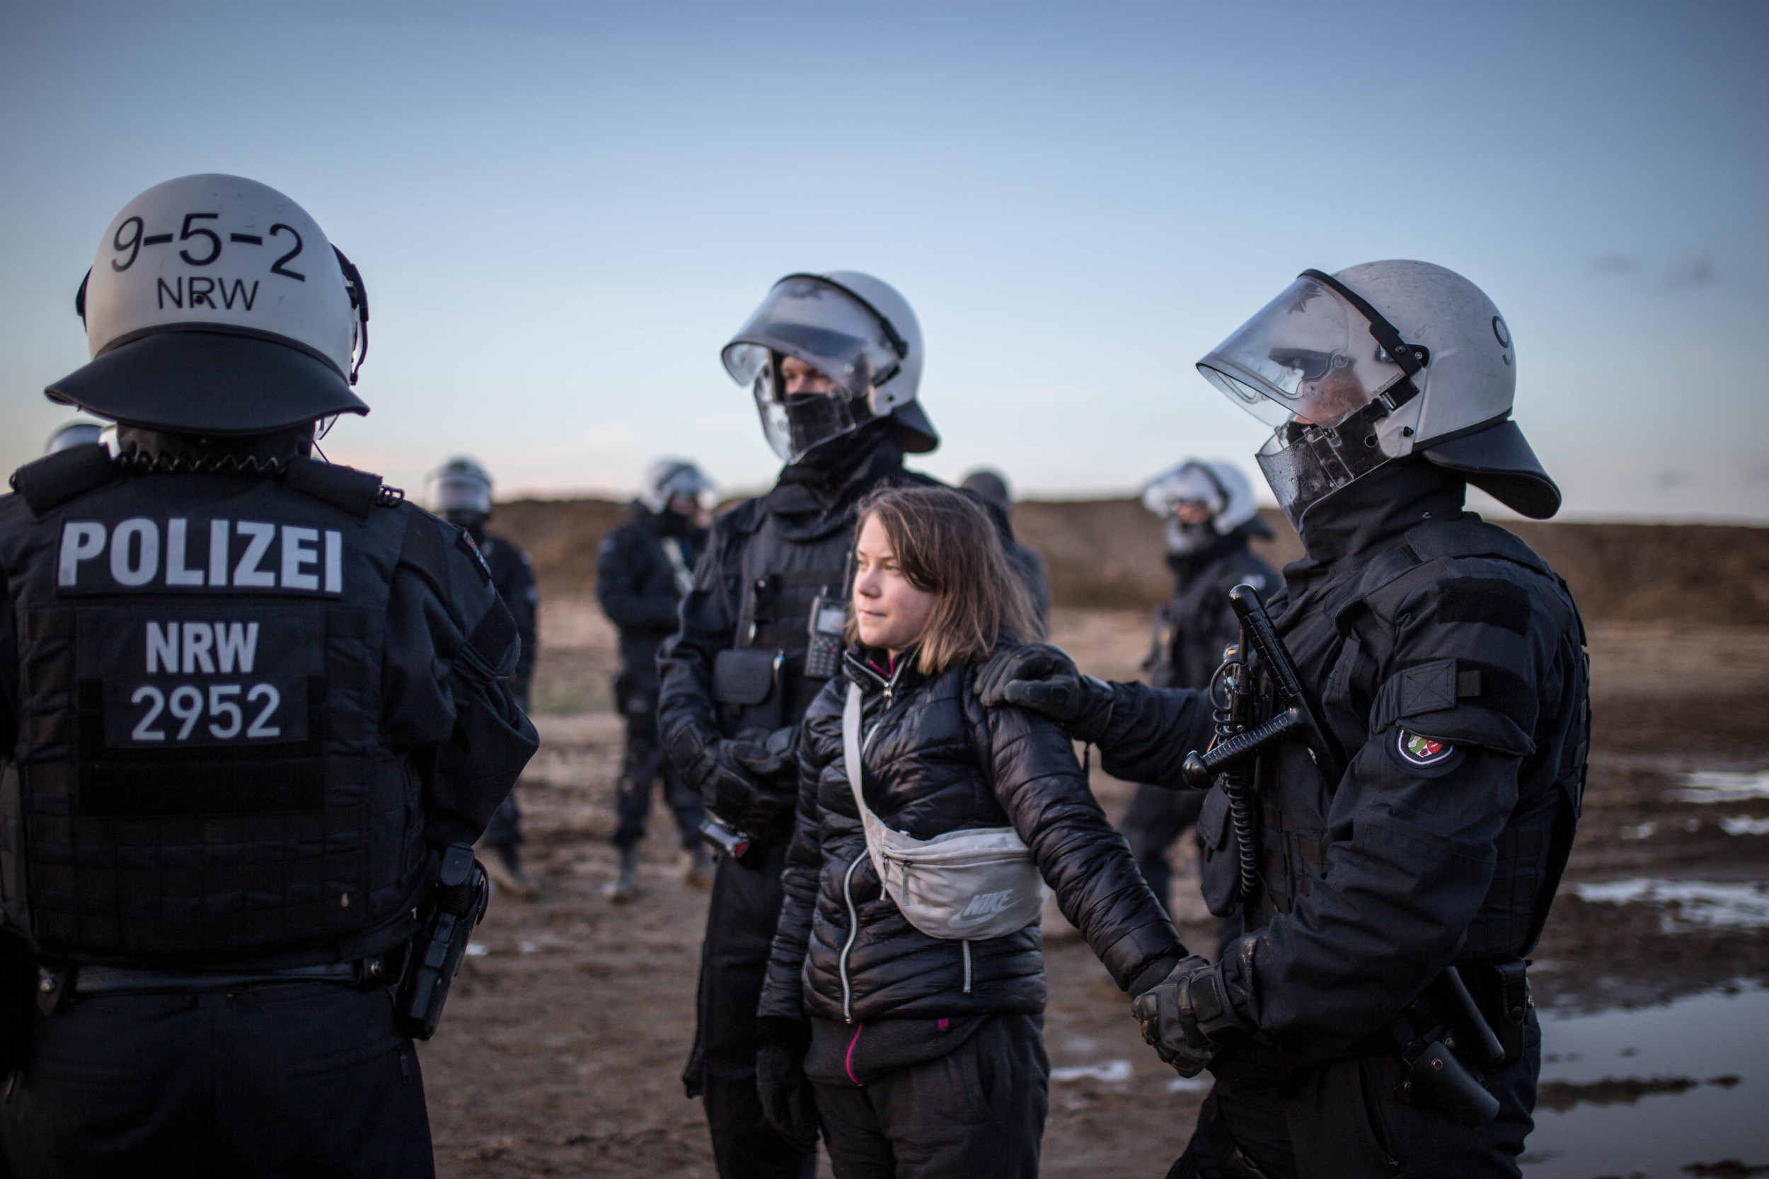
<svg viewBox="0 0 1769 1179">
<path fill-rule="evenodd" d="M 787 274 L 773 285 L 720 357 L 755 392 L 762 431 L 787 463 L 814 447 L 890 417 L 897 444 L 922 454 L 939 435 L 916 403 L 922 325 L 888 283 L 856 270 Z M 828 394 L 785 394 L 784 357 L 798 357 L 831 382 Z"/>
</svg>

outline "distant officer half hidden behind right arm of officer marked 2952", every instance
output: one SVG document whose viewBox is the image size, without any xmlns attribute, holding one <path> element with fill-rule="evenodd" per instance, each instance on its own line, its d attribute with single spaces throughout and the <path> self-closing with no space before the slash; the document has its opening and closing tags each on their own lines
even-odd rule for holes
<svg viewBox="0 0 1769 1179">
<path fill-rule="evenodd" d="M 517 670 L 509 675 L 509 689 L 529 711 L 529 688 L 534 684 L 536 613 L 540 613 L 540 589 L 534 585 L 534 566 L 520 546 L 485 530 L 492 518 L 492 475 L 485 467 L 458 454 L 437 470 L 430 472 L 430 509 L 448 520 L 456 529 L 465 529 L 474 548 L 485 559 L 485 567 L 492 571 L 492 585 L 504 606 L 517 620 L 517 635 L 522 638 L 522 654 L 517 656 Z M 540 896 L 540 887 L 522 866 L 522 811 L 517 808 L 517 795 L 511 792 L 497 804 L 492 824 L 485 829 L 479 845 L 492 852 L 485 870 L 504 893 L 515 900 L 531 901 Z"/>
</svg>

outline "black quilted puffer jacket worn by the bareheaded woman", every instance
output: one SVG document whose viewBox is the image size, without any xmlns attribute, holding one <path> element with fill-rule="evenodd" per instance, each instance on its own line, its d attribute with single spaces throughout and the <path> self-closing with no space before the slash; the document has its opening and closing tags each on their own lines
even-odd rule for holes
<svg viewBox="0 0 1769 1179">
<path fill-rule="evenodd" d="M 844 665 L 800 730 L 798 825 L 759 1015 L 860 1022 L 1044 1011 L 1037 924 L 971 942 L 966 992 L 964 942 L 922 933 L 881 887 L 842 758 L 849 677 L 867 693 L 867 804 L 886 825 L 929 840 L 1012 824 L 1063 916 L 1123 988 L 1185 955 L 1054 721 L 985 709 L 969 665 L 929 679 L 911 650 L 890 681 L 853 652 Z"/>
</svg>

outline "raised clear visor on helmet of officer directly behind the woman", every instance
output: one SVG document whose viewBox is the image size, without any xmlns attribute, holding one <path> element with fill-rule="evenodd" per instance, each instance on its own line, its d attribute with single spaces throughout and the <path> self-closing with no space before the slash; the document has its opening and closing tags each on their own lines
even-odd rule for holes
<svg viewBox="0 0 1769 1179">
<path fill-rule="evenodd" d="M 752 385 L 770 354 L 798 357 L 833 380 L 851 398 L 863 398 L 890 380 L 902 355 L 884 322 L 840 286 L 810 274 L 793 274 L 725 345 L 731 380 Z"/>
</svg>

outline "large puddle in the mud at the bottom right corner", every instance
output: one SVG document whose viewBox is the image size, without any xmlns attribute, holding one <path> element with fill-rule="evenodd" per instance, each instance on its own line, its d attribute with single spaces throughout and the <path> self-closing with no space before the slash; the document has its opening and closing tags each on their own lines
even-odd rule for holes
<svg viewBox="0 0 1769 1179">
<path fill-rule="evenodd" d="M 1543 1018 L 1527 1179 L 1769 1163 L 1769 990 Z M 1555 1108 L 1558 1107 L 1558 1108 Z"/>
</svg>

